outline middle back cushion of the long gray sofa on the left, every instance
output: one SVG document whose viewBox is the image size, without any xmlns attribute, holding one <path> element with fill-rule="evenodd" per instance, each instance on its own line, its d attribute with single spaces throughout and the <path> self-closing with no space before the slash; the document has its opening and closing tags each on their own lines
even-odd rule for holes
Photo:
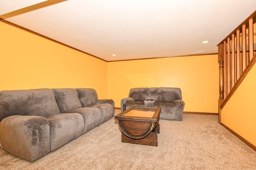
<svg viewBox="0 0 256 170">
<path fill-rule="evenodd" d="M 78 99 L 78 93 L 74 88 L 53 88 L 56 102 L 60 109 L 60 113 L 70 111 L 72 109 L 81 108 L 82 105 Z"/>
</svg>

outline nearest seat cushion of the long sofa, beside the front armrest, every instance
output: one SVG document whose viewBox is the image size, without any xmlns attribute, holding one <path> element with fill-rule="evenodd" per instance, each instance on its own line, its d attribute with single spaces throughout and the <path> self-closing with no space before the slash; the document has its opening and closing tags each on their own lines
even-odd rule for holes
<svg viewBox="0 0 256 170">
<path fill-rule="evenodd" d="M 47 119 L 50 123 L 51 152 L 76 139 L 84 131 L 84 118 L 79 113 L 60 113 Z"/>
</svg>

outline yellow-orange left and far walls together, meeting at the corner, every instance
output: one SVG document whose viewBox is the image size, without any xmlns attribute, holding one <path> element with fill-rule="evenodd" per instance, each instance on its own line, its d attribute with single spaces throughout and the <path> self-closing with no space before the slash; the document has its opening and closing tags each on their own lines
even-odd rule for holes
<svg viewBox="0 0 256 170">
<path fill-rule="evenodd" d="M 217 55 L 105 62 L 0 22 L 0 90 L 94 88 L 120 107 L 134 87 L 179 87 L 185 111 L 218 112 Z"/>
</svg>

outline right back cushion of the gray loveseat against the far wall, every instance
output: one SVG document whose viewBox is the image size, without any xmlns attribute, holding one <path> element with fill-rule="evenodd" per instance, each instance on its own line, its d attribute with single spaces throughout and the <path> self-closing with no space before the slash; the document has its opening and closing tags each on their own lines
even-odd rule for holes
<svg viewBox="0 0 256 170">
<path fill-rule="evenodd" d="M 173 103 L 174 100 L 182 99 L 180 88 L 160 87 L 158 88 L 157 102 Z"/>
</svg>

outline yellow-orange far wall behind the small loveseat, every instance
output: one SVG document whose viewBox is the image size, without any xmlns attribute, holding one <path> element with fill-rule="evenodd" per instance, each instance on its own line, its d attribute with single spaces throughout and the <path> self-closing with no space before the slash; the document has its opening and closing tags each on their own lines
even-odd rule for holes
<svg viewBox="0 0 256 170">
<path fill-rule="evenodd" d="M 120 106 L 130 88 L 178 87 L 184 111 L 218 113 L 218 55 L 108 62 L 108 98 Z"/>
</svg>

